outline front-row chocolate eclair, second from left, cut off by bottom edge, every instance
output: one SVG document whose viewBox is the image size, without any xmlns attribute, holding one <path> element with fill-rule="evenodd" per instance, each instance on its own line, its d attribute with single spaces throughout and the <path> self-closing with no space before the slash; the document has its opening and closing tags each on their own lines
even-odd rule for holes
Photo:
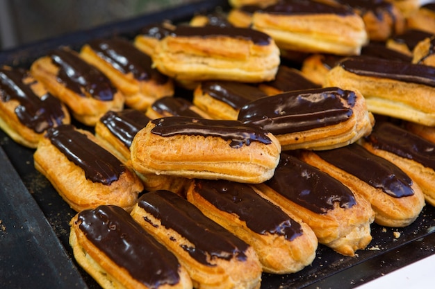
<svg viewBox="0 0 435 289">
<path fill-rule="evenodd" d="M 170 191 L 142 195 L 131 216 L 177 256 L 195 288 L 259 288 L 254 249 Z"/>
</svg>

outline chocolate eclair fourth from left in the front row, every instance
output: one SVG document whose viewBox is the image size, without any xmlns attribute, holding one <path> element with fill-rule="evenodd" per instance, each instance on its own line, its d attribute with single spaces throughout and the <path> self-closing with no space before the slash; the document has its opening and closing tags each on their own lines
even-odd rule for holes
<svg viewBox="0 0 435 289">
<path fill-rule="evenodd" d="M 295 156 L 281 154 L 274 176 L 256 186 L 284 211 L 306 222 L 319 243 L 340 254 L 354 256 L 372 240 L 375 212 L 370 202 Z"/>
</svg>

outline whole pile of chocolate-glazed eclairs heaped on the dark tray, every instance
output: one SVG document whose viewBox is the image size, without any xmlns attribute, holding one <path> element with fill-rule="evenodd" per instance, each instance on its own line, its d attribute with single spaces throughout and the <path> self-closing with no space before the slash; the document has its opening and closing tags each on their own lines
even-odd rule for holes
<svg viewBox="0 0 435 289">
<path fill-rule="evenodd" d="M 104 288 L 260 288 L 435 204 L 435 4 L 229 3 L 0 69 Z"/>
</svg>

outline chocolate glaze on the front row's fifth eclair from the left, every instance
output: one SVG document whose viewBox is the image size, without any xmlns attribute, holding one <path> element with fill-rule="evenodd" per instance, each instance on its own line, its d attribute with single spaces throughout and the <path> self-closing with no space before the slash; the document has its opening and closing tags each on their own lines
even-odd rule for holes
<svg viewBox="0 0 435 289">
<path fill-rule="evenodd" d="M 411 178 L 395 164 L 354 143 L 343 148 L 315 152 L 319 157 L 394 198 L 414 194 Z"/>
</svg>

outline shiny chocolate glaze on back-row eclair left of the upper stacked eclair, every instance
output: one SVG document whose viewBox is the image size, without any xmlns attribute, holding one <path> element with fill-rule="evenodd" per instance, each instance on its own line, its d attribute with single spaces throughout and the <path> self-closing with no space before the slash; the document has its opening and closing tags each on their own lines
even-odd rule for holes
<svg viewBox="0 0 435 289">
<path fill-rule="evenodd" d="M 93 40 L 90 48 L 104 61 L 121 73 L 132 73 L 136 80 L 154 80 L 159 85 L 167 82 L 157 69 L 152 68 L 151 57 L 122 39 Z"/>
</svg>

